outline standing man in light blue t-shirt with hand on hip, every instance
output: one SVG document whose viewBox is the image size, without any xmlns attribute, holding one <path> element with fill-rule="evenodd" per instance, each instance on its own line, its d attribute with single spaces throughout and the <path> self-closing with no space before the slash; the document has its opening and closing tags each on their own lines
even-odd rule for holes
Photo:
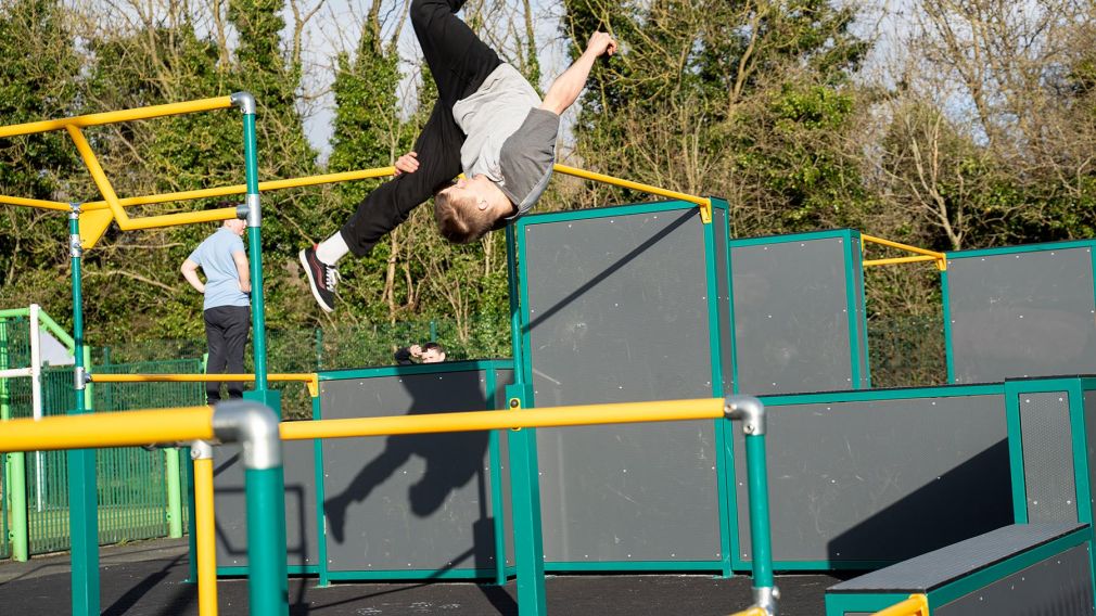
<svg viewBox="0 0 1096 616">
<path fill-rule="evenodd" d="M 247 223 L 225 220 L 224 226 L 205 239 L 186 261 L 182 272 L 186 282 L 198 293 L 205 294 L 202 307 L 206 324 L 209 360 L 206 374 L 243 374 L 243 347 L 251 331 L 251 274 L 248 253 L 243 249 Z M 198 278 L 202 267 L 206 282 Z M 220 383 L 206 383 L 206 401 L 220 400 Z M 228 384 L 229 398 L 243 397 L 243 384 Z"/>
</svg>

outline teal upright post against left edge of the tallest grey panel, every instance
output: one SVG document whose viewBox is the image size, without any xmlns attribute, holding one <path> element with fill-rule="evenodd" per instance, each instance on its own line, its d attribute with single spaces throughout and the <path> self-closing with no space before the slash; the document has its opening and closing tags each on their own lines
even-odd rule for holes
<svg viewBox="0 0 1096 616">
<path fill-rule="evenodd" d="M 514 226 L 507 225 L 506 274 L 510 282 L 510 335 L 514 353 L 514 385 L 506 387 L 506 399 L 511 412 L 521 412 L 532 396 L 525 378 L 515 247 Z M 511 431 L 509 445 L 514 558 L 517 564 L 517 611 L 522 616 L 543 616 L 548 613 L 548 605 L 545 598 L 545 550 L 540 526 L 536 430 L 526 427 Z"/>
</svg>

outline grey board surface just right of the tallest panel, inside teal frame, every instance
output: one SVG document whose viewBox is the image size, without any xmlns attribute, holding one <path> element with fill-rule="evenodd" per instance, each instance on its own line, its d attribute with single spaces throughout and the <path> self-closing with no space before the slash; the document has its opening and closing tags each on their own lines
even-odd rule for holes
<svg viewBox="0 0 1096 616">
<path fill-rule="evenodd" d="M 739 391 L 853 389 L 842 238 L 731 248 Z"/>
</svg>

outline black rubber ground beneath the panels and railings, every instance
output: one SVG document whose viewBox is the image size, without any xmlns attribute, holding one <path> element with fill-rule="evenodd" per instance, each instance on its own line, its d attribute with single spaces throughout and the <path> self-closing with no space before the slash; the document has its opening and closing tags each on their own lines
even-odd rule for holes
<svg viewBox="0 0 1096 616">
<path fill-rule="evenodd" d="M 196 616 L 197 588 L 185 583 L 184 541 L 149 541 L 104 548 L 100 569 L 104 616 Z M 781 575 L 783 616 L 820 616 L 829 575 Z M 546 583 L 548 613 L 567 616 L 726 616 L 749 606 L 750 579 L 710 575 L 560 575 Z M 220 614 L 248 614 L 243 580 L 217 585 Z M 316 579 L 289 581 L 289 614 L 402 616 L 510 616 L 517 614 L 514 582 L 505 586 L 460 582 L 431 584 L 338 583 L 316 588 Z M 68 614 L 71 611 L 68 556 L 0 563 L 0 614 Z"/>
</svg>

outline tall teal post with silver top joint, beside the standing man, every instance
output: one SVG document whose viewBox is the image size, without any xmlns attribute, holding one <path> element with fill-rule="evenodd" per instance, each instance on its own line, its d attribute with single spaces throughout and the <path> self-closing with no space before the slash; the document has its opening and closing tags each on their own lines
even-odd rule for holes
<svg viewBox="0 0 1096 616">
<path fill-rule="evenodd" d="M 248 262 L 251 269 L 251 335 L 255 364 L 255 388 L 244 395 L 281 414 L 278 392 L 271 390 L 266 369 L 266 317 L 263 303 L 262 208 L 259 198 L 259 147 L 255 140 L 255 98 L 249 92 L 232 94 L 232 104 L 243 114 L 243 164 L 247 195 L 243 207 L 248 219 Z"/>
</svg>

